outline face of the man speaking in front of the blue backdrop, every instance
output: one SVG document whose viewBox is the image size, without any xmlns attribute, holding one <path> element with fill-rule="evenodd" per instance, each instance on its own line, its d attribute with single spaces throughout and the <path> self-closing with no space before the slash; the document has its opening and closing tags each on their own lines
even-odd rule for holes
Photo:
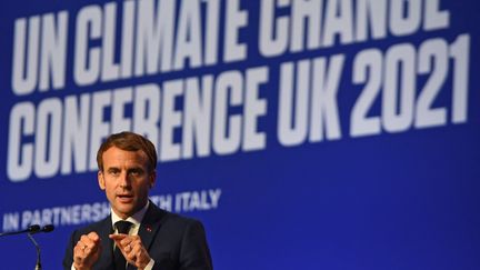
<svg viewBox="0 0 480 270">
<path fill-rule="evenodd" d="M 156 181 L 156 172 L 148 170 L 143 151 L 124 151 L 111 147 L 103 152 L 103 171 L 99 171 L 100 189 L 113 211 L 122 219 L 139 211 L 148 200 L 149 190 Z"/>
</svg>

